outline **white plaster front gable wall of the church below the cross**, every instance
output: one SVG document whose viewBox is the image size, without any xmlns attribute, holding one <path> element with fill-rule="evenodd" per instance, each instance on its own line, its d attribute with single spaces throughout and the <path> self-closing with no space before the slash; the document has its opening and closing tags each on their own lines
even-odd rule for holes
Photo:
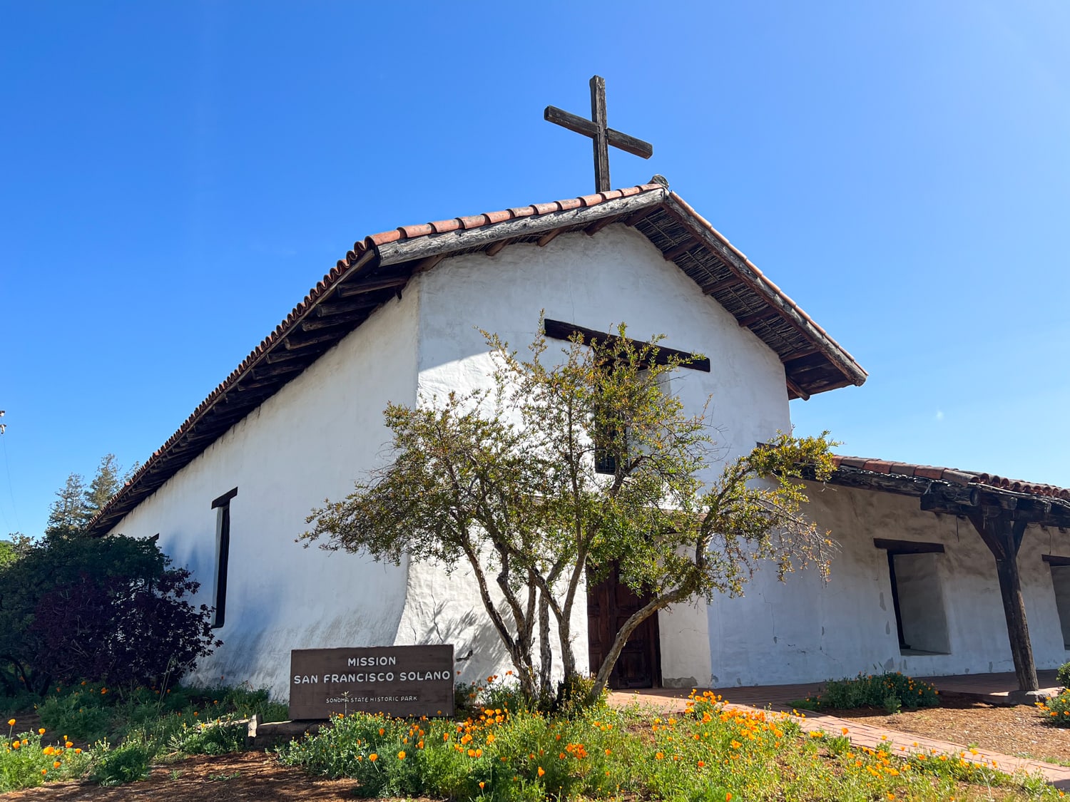
<svg viewBox="0 0 1070 802">
<path fill-rule="evenodd" d="M 456 257 L 417 281 L 418 390 L 424 396 L 486 386 L 492 364 L 475 327 L 523 349 L 545 310 L 547 318 L 602 331 L 624 322 L 632 337 L 663 334 L 664 345 L 708 356 L 709 373 L 679 370 L 672 389 L 690 412 L 713 398 L 709 411 L 719 427 L 722 459 L 748 452 L 758 441 L 790 427 L 783 367 L 776 354 L 632 229 L 610 226 L 594 236 L 559 236 L 544 248 L 513 245 L 495 257 Z M 421 642 L 435 628 L 457 627 L 458 651 L 464 653 L 465 644 L 475 650 L 464 676 L 501 673 L 505 663 L 496 636 L 478 623 L 479 599 L 470 579 L 461 572 L 447 579 L 433 567 L 413 566 L 409 583 L 399 636 Z M 704 603 L 660 614 L 666 684 L 709 682 L 710 622 Z M 581 662 L 586 629 L 581 597 L 572 621 Z"/>
</svg>

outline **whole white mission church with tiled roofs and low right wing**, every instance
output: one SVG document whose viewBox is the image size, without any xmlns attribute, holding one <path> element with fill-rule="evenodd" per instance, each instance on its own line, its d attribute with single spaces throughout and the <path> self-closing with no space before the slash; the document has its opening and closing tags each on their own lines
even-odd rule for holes
<svg viewBox="0 0 1070 802">
<path fill-rule="evenodd" d="M 789 431 L 793 399 L 866 380 L 659 181 L 369 236 L 91 524 L 95 535 L 158 533 L 201 582 L 199 601 L 216 606 L 225 645 L 200 679 L 247 680 L 285 697 L 291 649 L 423 643 L 471 650 L 464 679 L 507 667 L 460 574 L 294 539 L 312 507 L 382 464 L 387 402 L 484 385 L 491 361 L 476 327 L 526 343 L 541 310 L 566 328 L 626 322 L 707 355 L 708 372 L 677 371 L 672 391 L 692 411 L 713 398 L 725 459 Z M 810 491 L 811 515 L 840 543 L 830 582 L 804 573 L 781 584 L 760 572 L 745 598 L 663 611 L 616 683 L 801 682 L 874 666 L 1031 670 L 1026 660 L 1067 659 L 1070 492 L 853 458 Z M 588 611 L 572 631 L 582 662 Z"/>
</svg>

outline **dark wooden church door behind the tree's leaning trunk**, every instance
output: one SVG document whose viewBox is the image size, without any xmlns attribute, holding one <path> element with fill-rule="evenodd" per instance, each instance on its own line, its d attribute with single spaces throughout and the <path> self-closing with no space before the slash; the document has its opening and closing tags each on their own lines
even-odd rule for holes
<svg viewBox="0 0 1070 802">
<path fill-rule="evenodd" d="M 648 601 L 621 583 L 615 568 L 601 583 L 587 585 L 587 649 L 592 672 L 598 670 L 624 622 Z M 655 613 L 631 633 L 613 666 L 609 687 L 655 688 L 661 684 L 660 657 L 658 614 Z"/>
</svg>

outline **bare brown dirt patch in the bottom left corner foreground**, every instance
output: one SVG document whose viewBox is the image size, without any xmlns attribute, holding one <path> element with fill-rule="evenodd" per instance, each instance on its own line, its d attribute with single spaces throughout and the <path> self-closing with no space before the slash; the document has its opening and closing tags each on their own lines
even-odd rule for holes
<svg viewBox="0 0 1070 802">
<path fill-rule="evenodd" d="M 352 780 L 316 780 L 278 762 L 264 752 L 218 757 L 197 756 L 153 769 L 140 783 L 101 788 L 87 783 L 48 783 L 3 795 L 32 802 L 245 802 L 353 800 Z"/>
</svg>

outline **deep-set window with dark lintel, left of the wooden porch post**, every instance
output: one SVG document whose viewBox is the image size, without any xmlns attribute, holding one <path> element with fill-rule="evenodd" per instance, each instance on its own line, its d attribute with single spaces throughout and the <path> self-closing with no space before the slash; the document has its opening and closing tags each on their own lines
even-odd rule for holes
<svg viewBox="0 0 1070 802">
<path fill-rule="evenodd" d="M 888 552 L 891 604 L 903 654 L 949 654 L 951 639 L 939 577 L 941 543 L 874 540 Z"/>
</svg>

